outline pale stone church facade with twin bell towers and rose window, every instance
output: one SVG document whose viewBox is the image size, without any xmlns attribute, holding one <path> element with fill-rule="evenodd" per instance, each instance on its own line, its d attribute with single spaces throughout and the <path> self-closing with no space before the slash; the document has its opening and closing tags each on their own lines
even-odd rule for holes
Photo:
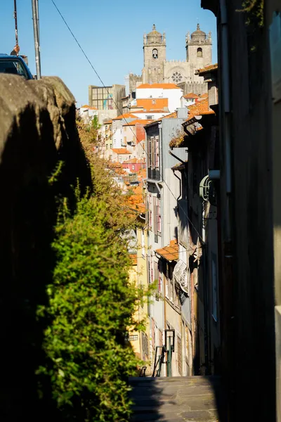
<svg viewBox="0 0 281 422">
<path fill-rule="evenodd" d="M 156 30 L 155 25 L 149 34 L 143 35 L 144 65 L 142 75 L 129 75 L 129 90 L 134 91 L 139 84 L 174 83 L 183 89 L 183 94 L 194 92 L 203 94 L 207 84 L 195 75 L 197 69 L 211 65 L 211 32 L 207 35 L 197 30 L 186 35 L 186 59 L 166 60 L 166 35 Z"/>
</svg>

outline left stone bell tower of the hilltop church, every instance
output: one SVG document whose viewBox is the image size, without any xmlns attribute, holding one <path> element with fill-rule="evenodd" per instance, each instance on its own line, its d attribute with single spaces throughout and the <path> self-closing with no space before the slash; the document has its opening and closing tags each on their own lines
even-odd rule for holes
<svg viewBox="0 0 281 422">
<path fill-rule="evenodd" d="M 164 81 L 164 63 L 166 61 L 166 37 L 156 30 L 155 25 L 149 34 L 143 35 L 143 84 L 155 84 Z"/>
</svg>

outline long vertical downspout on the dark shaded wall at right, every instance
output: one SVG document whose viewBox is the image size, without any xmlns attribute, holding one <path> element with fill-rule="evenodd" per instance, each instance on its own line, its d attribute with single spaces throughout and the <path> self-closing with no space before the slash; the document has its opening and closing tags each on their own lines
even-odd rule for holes
<svg viewBox="0 0 281 422">
<path fill-rule="evenodd" d="M 235 342 L 234 342 L 234 274 L 233 274 L 233 230 L 231 225 L 232 196 L 232 157 L 231 157 L 231 114 L 230 114 L 230 63 L 228 51 L 228 10 L 226 0 L 219 0 L 221 9 L 221 143 L 225 156 L 223 178 L 221 180 L 221 197 L 225 196 L 223 210 L 224 219 L 220 221 L 222 236 L 221 241 L 221 280 L 219 295 L 222 307 L 221 319 L 221 347 L 222 367 L 228 390 L 228 416 L 234 420 L 235 409 Z M 223 184 L 223 179 L 225 184 Z M 222 205 L 222 204 L 221 204 Z M 221 308 L 220 307 L 220 308 Z M 221 309 L 220 309 L 221 310 Z"/>
</svg>

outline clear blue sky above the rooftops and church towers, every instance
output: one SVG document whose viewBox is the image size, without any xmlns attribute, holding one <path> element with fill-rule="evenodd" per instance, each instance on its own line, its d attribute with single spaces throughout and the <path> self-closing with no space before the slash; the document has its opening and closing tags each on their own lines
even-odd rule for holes
<svg viewBox="0 0 281 422">
<path fill-rule="evenodd" d="M 20 53 L 29 58 L 35 73 L 32 0 L 17 0 Z M 167 60 L 185 59 L 185 34 L 197 22 L 213 34 L 213 62 L 216 62 L 216 20 L 200 8 L 200 0 L 55 0 L 65 20 L 105 85 L 124 84 L 129 72 L 141 75 L 143 33 L 166 32 Z M 13 0 L 0 1 L 0 52 L 10 53 L 15 45 Z M 63 79 L 77 100 L 88 103 L 88 85 L 100 81 L 86 61 L 51 0 L 39 0 L 41 72 Z"/>
</svg>

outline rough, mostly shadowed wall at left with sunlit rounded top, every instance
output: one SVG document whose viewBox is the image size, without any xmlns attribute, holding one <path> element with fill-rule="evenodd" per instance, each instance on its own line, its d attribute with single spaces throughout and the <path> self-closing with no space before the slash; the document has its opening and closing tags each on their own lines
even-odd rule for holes
<svg viewBox="0 0 281 422">
<path fill-rule="evenodd" d="M 51 186 L 59 160 L 63 170 Z M 1 421 L 50 416 L 49 386 L 40 401 L 35 375 L 45 359 L 36 310 L 46 303 L 55 264 L 55 197 L 71 198 L 77 177 L 90 183 L 67 87 L 56 77 L 0 75 Z"/>
</svg>

